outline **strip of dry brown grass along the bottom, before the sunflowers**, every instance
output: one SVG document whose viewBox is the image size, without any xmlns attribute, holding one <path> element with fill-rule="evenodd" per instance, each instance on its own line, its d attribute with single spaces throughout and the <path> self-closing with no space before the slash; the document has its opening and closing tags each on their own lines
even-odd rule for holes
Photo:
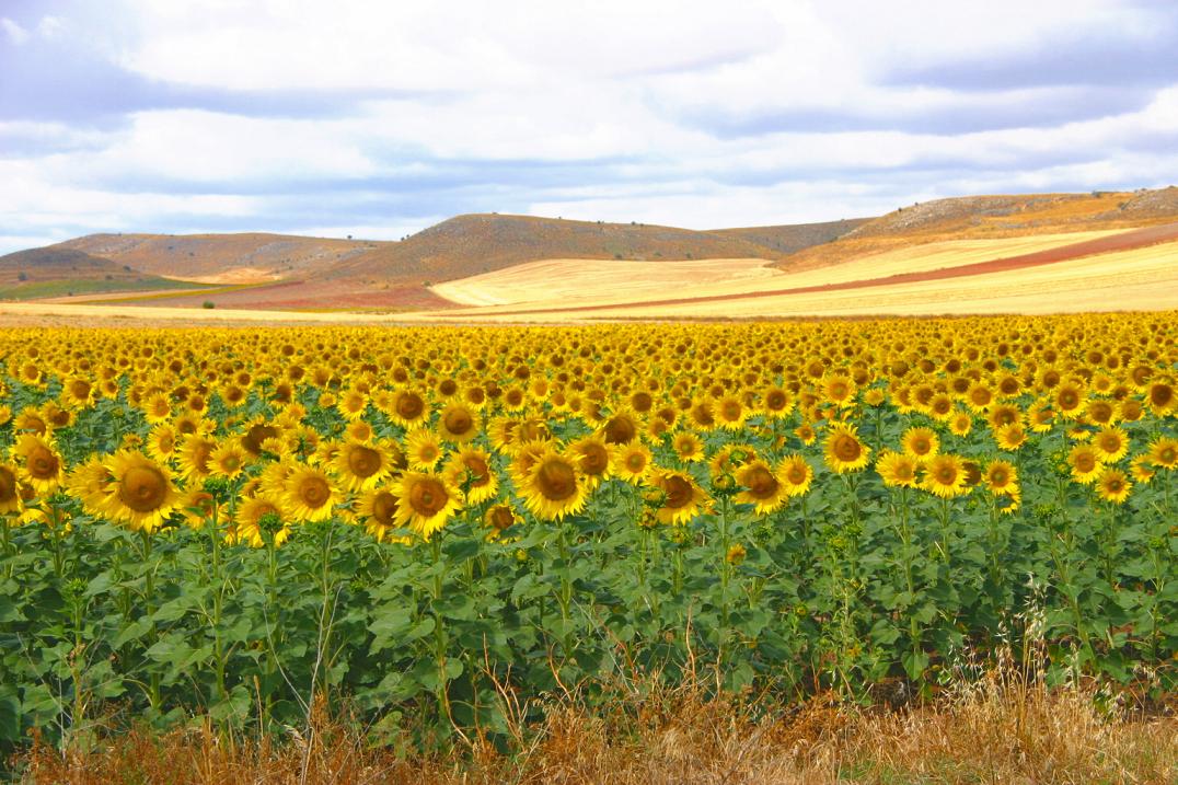
<svg viewBox="0 0 1178 785">
<path fill-rule="evenodd" d="M 260 741 L 203 726 L 135 731 L 88 753 L 39 744 L 27 783 L 1172 783 L 1178 721 L 1101 711 L 1084 688 L 1048 691 L 990 675 L 934 706 L 898 712 L 814 699 L 775 706 L 714 698 L 701 685 L 620 688 L 595 712 L 575 697 L 515 727 L 514 751 L 446 754 L 377 747 L 320 706 L 313 731 Z M 601 704 L 598 704 L 600 706 Z M 309 743 L 309 739 L 311 741 Z"/>
</svg>

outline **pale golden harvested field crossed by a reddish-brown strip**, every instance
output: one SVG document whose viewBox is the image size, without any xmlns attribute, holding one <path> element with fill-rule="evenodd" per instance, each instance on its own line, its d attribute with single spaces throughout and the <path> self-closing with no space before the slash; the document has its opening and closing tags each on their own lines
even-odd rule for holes
<svg viewBox="0 0 1178 785">
<path fill-rule="evenodd" d="M 679 272 L 673 263 L 628 263 L 633 279 L 601 282 L 596 288 L 577 279 L 576 264 L 583 263 L 552 262 L 448 284 L 449 290 L 435 289 L 436 293 L 452 291 L 466 299 L 514 296 L 514 306 L 456 309 L 408 318 L 545 322 L 1165 309 L 1178 303 L 1174 233 L 1178 229 L 1170 225 L 940 242 L 795 273 L 746 260 L 737 281 L 693 279 L 695 271 Z M 564 271 L 576 296 L 564 293 L 557 284 L 549 290 L 556 296 L 537 299 L 545 281 L 551 285 L 561 278 L 556 270 Z"/>
</svg>

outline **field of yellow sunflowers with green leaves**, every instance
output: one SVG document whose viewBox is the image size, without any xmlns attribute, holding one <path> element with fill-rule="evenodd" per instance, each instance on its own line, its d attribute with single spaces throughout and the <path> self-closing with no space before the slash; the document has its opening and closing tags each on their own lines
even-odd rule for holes
<svg viewBox="0 0 1178 785">
<path fill-rule="evenodd" d="M 0 335 L 8 745 L 998 649 L 1174 687 L 1174 314 Z"/>
</svg>

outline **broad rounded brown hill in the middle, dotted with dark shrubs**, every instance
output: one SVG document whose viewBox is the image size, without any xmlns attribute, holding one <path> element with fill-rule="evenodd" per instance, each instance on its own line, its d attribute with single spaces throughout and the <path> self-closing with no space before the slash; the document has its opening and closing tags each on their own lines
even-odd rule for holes
<svg viewBox="0 0 1178 785">
<path fill-rule="evenodd" d="M 438 283 L 540 259 L 781 258 L 762 244 L 719 232 L 649 224 L 457 216 L 401 243 L 335 263 L 327 279 Z"/>
</svg>

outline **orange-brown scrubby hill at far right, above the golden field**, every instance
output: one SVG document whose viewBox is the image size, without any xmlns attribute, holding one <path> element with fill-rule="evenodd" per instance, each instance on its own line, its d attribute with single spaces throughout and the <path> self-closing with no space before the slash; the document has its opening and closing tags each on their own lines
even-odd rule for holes
<svg viewBox="0 0 1178 785">
<path fill-rule="evenodd" d="M 937 199 L 863 222 L 839 239 L 802 249 L 776 266 L 805 270 L 898 248 L 1133 229 L 1178 220 L 1178 187 Z"/>
</svg>

